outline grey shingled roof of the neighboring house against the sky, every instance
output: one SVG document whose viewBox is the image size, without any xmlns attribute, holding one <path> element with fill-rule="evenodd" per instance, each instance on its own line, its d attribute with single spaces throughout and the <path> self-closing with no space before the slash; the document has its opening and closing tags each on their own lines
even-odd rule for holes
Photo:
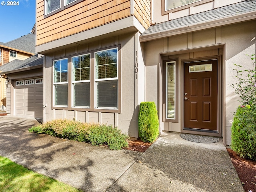
<svg viewBox="0 0 256 192">
<path fill-rule="evenodd" d="M 21 50 L 28 53 L 36 53 L 36 35 L 35 34 L 27 34 L 20 38 L 11 40 L 7 43 L 0 42 L 0 46 L 13 48 L 14 50 Z"/>
</svg>

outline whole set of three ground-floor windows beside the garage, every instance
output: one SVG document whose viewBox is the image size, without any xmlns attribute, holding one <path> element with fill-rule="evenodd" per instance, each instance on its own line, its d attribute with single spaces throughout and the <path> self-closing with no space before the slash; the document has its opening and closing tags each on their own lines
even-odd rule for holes
<svg viewBox="0 0 256 192">
<path fill-rule="evenodd" d="M 52 60 L 55 109 L 120 112 L 120 46 Z"/>
</svg>

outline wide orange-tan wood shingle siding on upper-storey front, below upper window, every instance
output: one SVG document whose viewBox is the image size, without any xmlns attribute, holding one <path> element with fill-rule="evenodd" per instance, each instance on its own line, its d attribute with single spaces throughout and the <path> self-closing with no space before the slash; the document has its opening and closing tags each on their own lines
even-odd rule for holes
<svg viewBox="0 0 256 192">
<path fill-rule="evenodd" d="M 130 0 L 85 0 L 44 18 L 44 0 L 37 0 L 36 45 L 70 36 L 129 15 Z"/>
</svg>

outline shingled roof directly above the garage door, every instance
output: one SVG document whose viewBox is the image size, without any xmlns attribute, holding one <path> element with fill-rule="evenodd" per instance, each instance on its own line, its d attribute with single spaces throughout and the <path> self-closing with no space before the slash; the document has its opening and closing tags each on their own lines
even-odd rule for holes
<svg viewBox="0 0 256 192">
<path fill-rule="evenodd" d="M 40 68 L 43 66 L 43 59 L 43 56 L 38 58 L 38 54 L 35 54 L 25 60 L 15 59 L 3 66 L 0 66 L 0 74 L 9 74 L 32 68 Z"/>
</svg>

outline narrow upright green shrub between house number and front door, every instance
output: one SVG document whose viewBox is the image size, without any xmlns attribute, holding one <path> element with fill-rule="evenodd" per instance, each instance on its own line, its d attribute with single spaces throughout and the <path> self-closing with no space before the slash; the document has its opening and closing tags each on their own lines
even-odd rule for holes
<svg viewBox="0 0 256 192">
<path fill-rule="evenodd" d="M 139 137 L 152 143 L 159 136 L 159 121 L 154 102 L 141 102 L 139 112 Z"/>
</svg>

